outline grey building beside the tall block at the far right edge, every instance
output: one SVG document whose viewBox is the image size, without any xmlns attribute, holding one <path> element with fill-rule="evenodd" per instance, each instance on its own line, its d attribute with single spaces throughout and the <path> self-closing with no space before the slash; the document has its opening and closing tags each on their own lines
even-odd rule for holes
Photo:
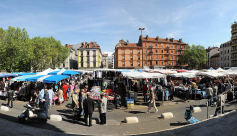
<svg viewBox="0 0 237 136">
<path fill-rule="evenodd" d="M 225 42 L 220 45 L 220 67 L 231 67 L 231 41 Z"/>
</svg>

